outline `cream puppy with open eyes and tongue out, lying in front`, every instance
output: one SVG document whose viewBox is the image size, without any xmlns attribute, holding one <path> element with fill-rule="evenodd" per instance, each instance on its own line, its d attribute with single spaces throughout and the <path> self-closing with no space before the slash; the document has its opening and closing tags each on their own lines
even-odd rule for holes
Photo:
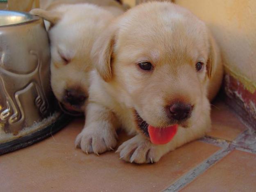
<svg viewBox="0 0 256 192">
<path fill-rule="evenodd" d="M 153 163 L 204 136 L 222 81 L 219 49 L 204 22 L 169 2 L 140 4 L 97 39 L 86 124 L 75 145 L 100 154 L 119 127 L 135 136 L 120 158 Z"/>
</svg>

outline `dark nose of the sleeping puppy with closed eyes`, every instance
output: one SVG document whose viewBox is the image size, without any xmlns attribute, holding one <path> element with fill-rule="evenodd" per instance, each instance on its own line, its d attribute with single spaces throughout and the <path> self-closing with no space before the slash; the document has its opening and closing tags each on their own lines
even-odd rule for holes
<svg viewBox="0 0 256 192">
<path fill-rule="evenodd" d="M 86 96 L 83 92 L 77 91 L 75 89 L 68 89 L 64 95 L 64 100 L 70 105 L 82 105 L 86 100 Z"/>
</svg>

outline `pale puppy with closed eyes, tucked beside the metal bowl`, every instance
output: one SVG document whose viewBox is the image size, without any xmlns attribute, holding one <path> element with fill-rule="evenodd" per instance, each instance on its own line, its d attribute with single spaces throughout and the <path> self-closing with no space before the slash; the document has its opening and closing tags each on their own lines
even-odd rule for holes
<svg viewBox="0 0 256 192">
<path fill-rule="evenodd" d="M 93 43 L 124 8 L 114 0 L 44 2 L 41 6 L 46 10 L 33 9 L 31 13 L 50 22 L 52 90 L 64 111 L 79 114 L 84 112 L 88 98 Z M 75 4 L 77 2 L 94 4 Z"/>
</svg>

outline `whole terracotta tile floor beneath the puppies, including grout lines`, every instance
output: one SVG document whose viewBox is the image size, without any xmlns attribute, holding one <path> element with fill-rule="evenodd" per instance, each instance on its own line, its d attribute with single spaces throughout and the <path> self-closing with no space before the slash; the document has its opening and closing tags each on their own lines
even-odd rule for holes
<svg viewBox="0 0 256 192">
<path fill-rule="evenodd" d="M 86 155 L 74 140 L 76 119 L 47 138 L 0 157 L 0 192 L 9 191 L 256 191 L 256 134 L 221 102 L 213 130 L 158 163 L 125 163 L 118 154 Z M 121 140 L 127 136 L 121 134 Z"/>
</svg>

